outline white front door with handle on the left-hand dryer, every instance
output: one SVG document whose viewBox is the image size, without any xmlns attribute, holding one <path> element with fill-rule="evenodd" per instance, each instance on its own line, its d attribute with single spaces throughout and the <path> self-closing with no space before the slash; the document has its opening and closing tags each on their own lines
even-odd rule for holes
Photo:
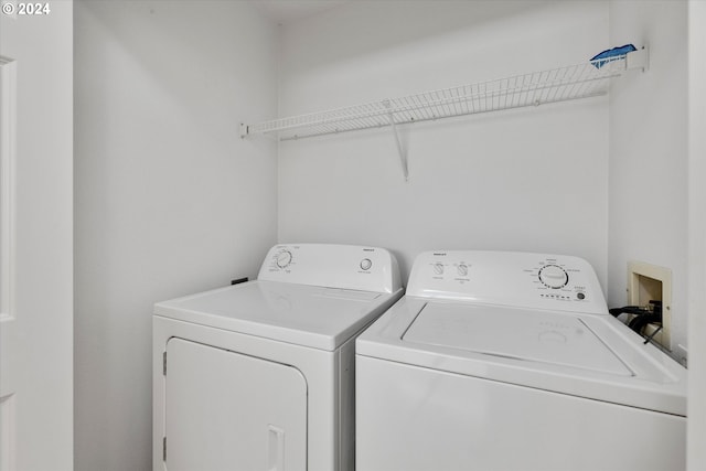
<svg viewBox="0 0 706 471">
<path fill-rule="evenodd" d="M 167 344 L 169 471 L 304 471 L 307 382 L 288 365 L 181 339 Z"/>
</svg>

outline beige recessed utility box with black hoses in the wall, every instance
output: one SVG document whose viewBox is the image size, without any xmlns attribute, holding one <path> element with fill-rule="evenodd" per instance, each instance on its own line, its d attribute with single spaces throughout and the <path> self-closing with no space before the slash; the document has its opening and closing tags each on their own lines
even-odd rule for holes
<svg viewBox="0 0 706 471">
<path fill-rule="evenodd" d="M 650 301 L 662 302 L 662 329 L 648 324 L 642 332 L 652 341 L 672 351 L 672 270 L 644 261 L 628 263 L 628 303 L 648 307 Z"/>
</svg>

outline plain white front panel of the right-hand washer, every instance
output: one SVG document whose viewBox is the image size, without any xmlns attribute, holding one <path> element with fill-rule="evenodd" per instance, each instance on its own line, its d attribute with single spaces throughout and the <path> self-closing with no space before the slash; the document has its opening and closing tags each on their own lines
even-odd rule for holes
<svg viewBox="0 0 706 471">
<path fill-rule="evenodd" d="M 685 417 L 367 356 L 356 360 L 359 470 L 685 468 Z"/>
</svg>

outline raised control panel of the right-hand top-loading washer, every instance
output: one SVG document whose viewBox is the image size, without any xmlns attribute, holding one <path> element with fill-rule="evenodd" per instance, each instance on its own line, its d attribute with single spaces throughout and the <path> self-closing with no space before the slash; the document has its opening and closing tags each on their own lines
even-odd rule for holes
<svg viewBox="0 0 706 471">
<path fill-rule="evenodd" d="M 407 296 L 605 314 L 596 272 L 582 258 L 518 251 L 436 250 L 415 260 Z"/>
</svg>

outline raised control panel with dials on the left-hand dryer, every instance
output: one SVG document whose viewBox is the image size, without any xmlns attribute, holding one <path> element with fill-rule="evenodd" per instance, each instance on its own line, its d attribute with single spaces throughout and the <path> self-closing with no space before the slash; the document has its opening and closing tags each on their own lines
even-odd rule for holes
<svg viewBox="0 0 706 471">
<path fill-rule="evenodd" d="M 402 288 L 394 255 L 379 247 L 353 245 L 276 245 L 257 279 L 377 292 Z"/>
</svg>

